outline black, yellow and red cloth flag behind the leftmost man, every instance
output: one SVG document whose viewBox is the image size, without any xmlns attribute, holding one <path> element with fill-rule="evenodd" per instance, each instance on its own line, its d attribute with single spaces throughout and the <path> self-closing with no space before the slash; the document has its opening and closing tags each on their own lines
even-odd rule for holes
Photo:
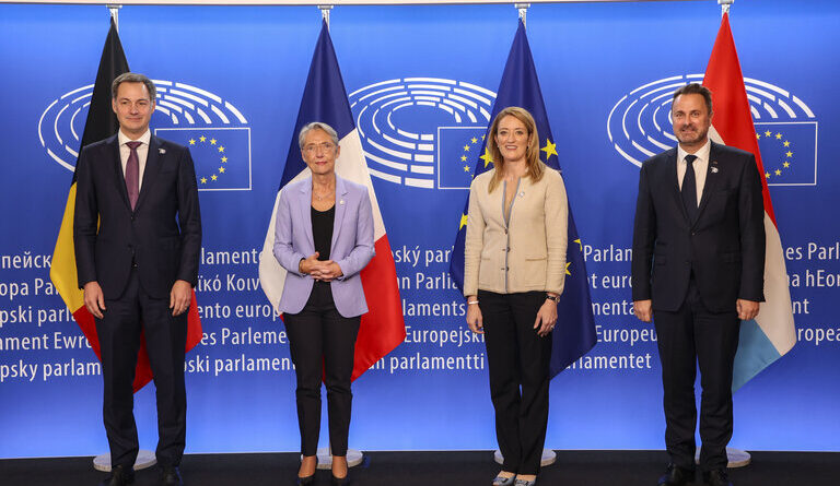
<svg viewBox="0 0 840 486">
<path fill-rule="evenodd" d="M 126 54 L 122 50 L 122 44 L 119 42 L 117 26 L 114 19 L 110 20 L 110 28 L 105 39 L 105 47 L 102 50 L 100 69 L 96 73 L 96 83 L 93 86 L 91 105 L 88 111 L 88 120 L 84 123 L 84 133 L 82 134 L 82 144 L 85 146 L 93 142 L 106 139 L 117 132 L 119 123 L 110 106 L 110 84 L 118 75 L 129 72 Z M 81 153 L 81 150 L 79 151 Z M 78 161 L 77 161 L 78 162 Z M 93 316 L 84 307 L 84 296 L 79 288 L 75 252 L 73 246 L 73 213 L 75 211 L 75 173 L 73 181 L 70 185 L 70 192 L 67 195 L 67 205 L 65 208 L 65 217 L 61 220 L 61 228 L 58 232 L 56 249 L 52 252 L 52 265 L 49 276 L 52 284 L 58 289 L 59 295 L 67 304 L 67 307 L 73 313 L 75 322 L 82 329 L 84 336 L 100 357 L 100 340 L 96 336 L 96 325 Z M 187 351 L 195 347 L 201 341 L 201 322 L 198 317 L 198 307 L 196 305 L 196 293 L 192 293 L 192 301 L 189 306 L 188 331 L 187 331 Z M 152 370 L 149 366 L 149 356 L 145 352 L 145 340 L 141 340 L 140 352 L 137 359 L 137 370 L 135 372 L 135 392 L 143 388 L 152 380 Z"/>
</svg>

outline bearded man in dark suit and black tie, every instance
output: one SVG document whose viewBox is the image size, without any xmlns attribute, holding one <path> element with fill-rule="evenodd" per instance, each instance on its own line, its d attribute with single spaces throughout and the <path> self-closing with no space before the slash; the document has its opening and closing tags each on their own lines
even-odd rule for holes
<svg viewBox="0 0 840 486">
<path fill-rule="evenodd" d="M 700 366 L 700 469 L 712 486 L 731 486 L 732 369 L 740 320 L 763 300 L 761 180 L 752 154 L 709 140 L 711 92 L 674 93 L 675 149 L 642 164 L 633 228 L 635 316 L 653 319 L 664 388 L 670 464 L 658 484 L 695 475 L 695 378 Z"/>
</svg>

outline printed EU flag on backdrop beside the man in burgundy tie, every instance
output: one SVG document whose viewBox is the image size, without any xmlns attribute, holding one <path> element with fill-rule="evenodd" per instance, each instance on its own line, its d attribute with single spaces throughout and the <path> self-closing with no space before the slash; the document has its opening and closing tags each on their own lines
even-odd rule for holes
<svg viewBox="0 0 840 486">
<path fill-rule="evenodd" d="M 250 190 L 249 128 L 159 128 L 154 133 L 189 149 L 199 191 Z"/>
</svg>

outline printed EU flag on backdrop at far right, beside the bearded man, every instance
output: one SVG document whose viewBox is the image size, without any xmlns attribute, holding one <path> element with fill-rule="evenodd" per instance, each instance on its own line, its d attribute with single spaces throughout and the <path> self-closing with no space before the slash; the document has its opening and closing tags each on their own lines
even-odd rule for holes
<svg viewBox="0 0 840 486">
<path fill-rule="evenodd" d="M 769 186 L 817 183 L 817 122 L 756 123 L 758 147 Z"/>
</svg>

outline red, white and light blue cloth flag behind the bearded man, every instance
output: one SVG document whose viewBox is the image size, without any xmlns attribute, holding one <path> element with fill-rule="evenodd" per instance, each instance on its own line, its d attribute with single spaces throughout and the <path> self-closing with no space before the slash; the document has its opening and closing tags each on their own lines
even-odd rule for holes
<svg viewBox="0 0 840 486">
<path fill-rule="evenodd" d="M 705 70 L 703 85 L 712 91 L 713 110 L 712 140 L 745 150 L 756 155 L 758 173 L 765 174 L 758 139 L 752 125 L 744 78 L 740 73 L 738 54 L 730 29 L 730 15 L 723 15 L 718 39 L 712 48 L 709 67 Z M 784 253 L 779 228 L 775 224 L 773 204 L 767 188 L 767 179 L 761 179 L 765 199 L 765 233 L 767 252 L 765 260 L 765 299 L 758 316 L 740 324 L 740 341 L 735 355 L 735 370 L 732 390 L 758 375 L 791 351 L 796 343 L 796 330 L 793 323 L 791 293 L 788 288 L 788 272 L 784 268 Z"/>
</svg>

